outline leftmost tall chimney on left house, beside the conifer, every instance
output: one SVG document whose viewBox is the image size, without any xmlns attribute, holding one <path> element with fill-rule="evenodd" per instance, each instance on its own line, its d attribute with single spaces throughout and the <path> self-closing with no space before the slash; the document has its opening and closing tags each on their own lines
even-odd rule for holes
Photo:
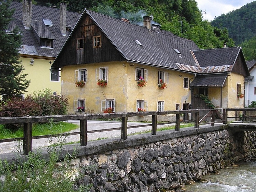
<svg viewBox="0 0 256 192">
<path fill-rule="evenodd" d="M 31 29 L 31 20 L 32 20 L 32 0 L 24 0 L 22 22 L 25 29 Z"/>
</svg>

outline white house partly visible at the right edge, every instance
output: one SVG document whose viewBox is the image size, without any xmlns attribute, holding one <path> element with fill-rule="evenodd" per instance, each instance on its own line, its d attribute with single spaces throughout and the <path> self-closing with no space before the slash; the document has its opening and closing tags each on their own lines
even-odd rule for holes
<svg viewBox="0 0 256 192">
<path fill-rule="evenodd" d="M 256 101 L 256 61 L 247 61 L 251 76 L 245 78 L 245 107 Z"/>
</svg>

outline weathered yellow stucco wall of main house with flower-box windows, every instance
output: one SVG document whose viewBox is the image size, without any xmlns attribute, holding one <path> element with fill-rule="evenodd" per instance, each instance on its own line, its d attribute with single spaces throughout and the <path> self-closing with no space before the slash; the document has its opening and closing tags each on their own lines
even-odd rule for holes
<svg viewBox="0 0 256 192">
<path fill-rule="evenodd" d="M 108 83 L 106 87 L 96 84 L 96 69 L 108 67 Z M 137 87 L 135 69 L 148 70 L 147 85 Z M 84 87 L 75 86 L 75 70 L 87 69 L 88 81 Z M 169 73 L 167 88 L 158 88 L 158 71 Z M 176 104 L 182 109 L 185 99 L 191 103 L 191 92 L 183 88 L 183 78 L 192 78 L 193 74 L 171 70 L 163 70 L 147 65 L 124 62 L 107 62 L 84 65 L 71 65 L 62 68 L 61 93 L 69 98 L 68 113 L 74 114 L 74 100 L 85 100 L 85 112 L 101 113 L 101 100 L 115 99 L 115 112 L 136 112 L 137 100 L 147 101 L 147 110 L 156 111 L 157 102 L 164 101 L 164 110 L 175 110 Z M 181 77 L 180 77 L 180 76 Z"/>
</svg>

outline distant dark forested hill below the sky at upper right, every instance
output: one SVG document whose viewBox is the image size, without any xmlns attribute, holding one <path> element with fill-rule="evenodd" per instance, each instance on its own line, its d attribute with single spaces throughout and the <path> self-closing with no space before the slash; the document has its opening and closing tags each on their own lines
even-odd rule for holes
<svg viewBox="0 0 256 192">
<path fill-rule="evenodd" d="M 218 28 L 227 28 L 229 37 L 234 40 L 236 45 L 251 39 L 256 35 L 256 1 L 226 15 L 218 16 L 211 24 Z"/>
</svg>

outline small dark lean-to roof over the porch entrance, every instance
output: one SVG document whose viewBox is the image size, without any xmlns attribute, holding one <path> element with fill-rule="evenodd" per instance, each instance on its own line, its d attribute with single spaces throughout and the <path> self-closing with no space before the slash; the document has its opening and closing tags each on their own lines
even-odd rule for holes
<svg viewBox="0 0 256 192">
<path fill-rule="evenodd" d="M 199 75 L 190 87 L 223 87 L 228 74 Z"/>
</svg>

